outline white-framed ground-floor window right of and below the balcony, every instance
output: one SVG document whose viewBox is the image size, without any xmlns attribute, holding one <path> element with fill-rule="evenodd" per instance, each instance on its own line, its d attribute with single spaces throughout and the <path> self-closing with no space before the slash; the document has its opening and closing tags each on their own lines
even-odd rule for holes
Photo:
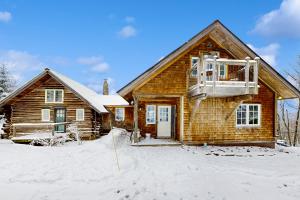
<svg viewBox="0 0 300 200">
<path fill-rule="evenodd" d="M 241 104 L 236 111 L 236 126 L 259 126 L 260 104 Z"/>
</svg>

